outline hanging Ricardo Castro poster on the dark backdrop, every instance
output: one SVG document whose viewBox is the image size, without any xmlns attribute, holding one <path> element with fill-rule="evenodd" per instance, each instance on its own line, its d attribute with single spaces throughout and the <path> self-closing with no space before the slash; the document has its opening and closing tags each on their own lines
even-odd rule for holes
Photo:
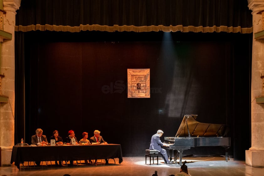
<svg viewBox="0 0 264 176">
<path fill-rule="evenodd" d="M 150 98 L 150 69 L 127 69 L 127 97 Z"/>
</svg>

